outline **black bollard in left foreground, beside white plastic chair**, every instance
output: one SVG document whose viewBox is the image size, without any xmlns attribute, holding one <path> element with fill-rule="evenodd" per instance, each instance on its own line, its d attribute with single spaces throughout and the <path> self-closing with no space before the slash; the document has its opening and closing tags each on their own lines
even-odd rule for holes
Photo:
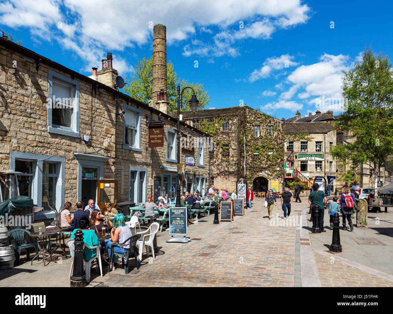
<svg viewBox="0 0 393 314">
<path fill-rule="evenodd" d="M 83 262 L 83 232 L 81 229 L 75 232 L 74 260 L 70 287 L 86 287 L 86 273 Z"/>
</svg>

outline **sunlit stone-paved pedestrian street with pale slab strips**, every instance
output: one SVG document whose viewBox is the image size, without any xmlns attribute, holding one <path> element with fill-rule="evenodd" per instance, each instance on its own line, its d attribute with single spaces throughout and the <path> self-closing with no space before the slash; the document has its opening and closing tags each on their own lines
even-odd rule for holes
<svg viewBox="0 0 393 314">
<path fill-rule="evenodd" d="M 393 286 L 392 267 L 385 263 L 391 260 L 393 252 L 391 235 L 387 234 L 391 231 L 380 232 L 387 235 L 376 235 L 372 228 L 354 230 L 367 232 L 364 235 L 386 244 L 356 244 L 358 247 L 355 240 L 350 247 L 347 237 L 364 235 L 347 232 L 348 235 L 342 235 L 343 253 L 333 254 L 328 248 L 330 230 L 319 235 L 310 233 L 305 214 L 307 204 L 306 199 L 300 204 L 293 203 L 290 219 L 286 221 L 281 219 L 281 206 L 274 208 L 274 219 L 268 220 L 260 199 L 244 216 L 235 216 L 232 222 L 213 225 L 214 215 L 202 217 L 198 225 L 189 227 L 193 240 L 187 244 L 166 243 L 169 232 L 162 232 L 157 238 L 160 255 L 154 261 L 143 253 L 140 269 L 131 268 L 127 275 L 121 268 L 108 274 L 104 269 L 104 276 L 100 277 L 95 268 L 88 287 Z M 390 213 L 372 215 L 380 215 L 380 218 L 383 215 L 380 226 L 385 228 L 384 220 L 386 228 L 391 230 Z M 367 264 L 358 260 L 361 255 L 370 261 L 380 260 Z M 21 262 L 18 267 L 0 271 L 0 286 L 69 286 L 70 259 L 58 259 L 46 267 L 37 261 L 31 266 L 24 258 Z"/>
</svg>

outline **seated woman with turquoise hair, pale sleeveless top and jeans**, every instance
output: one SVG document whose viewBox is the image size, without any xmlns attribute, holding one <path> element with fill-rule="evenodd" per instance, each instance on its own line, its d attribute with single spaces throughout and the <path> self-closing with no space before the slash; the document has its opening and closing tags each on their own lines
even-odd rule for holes
<svg viewBox="0 0 393 314">
<path fill-rule="evenodd" d="M 113 219 L 113 228 L 110 230 L 110 237 L 111 240 L 107 242 L 105 246 L 105 255 L 104 258 L 108 258 L 110 256 L 110 249 L 111 245 L 114 243 L 123 243 L 128 238 L 132 237 L 131 229 L 125 225 L 125 219 L 123 214 L 118 214 Z M 122 245 L 115 245 L 112 246 L 114 252 L 116 253 L 127 253 L 130 248 L 130 240 L 125 242 Z M 112 260 L 110 261 L 110 269 L 115 270 L 113 256 Z"/>
</svg>

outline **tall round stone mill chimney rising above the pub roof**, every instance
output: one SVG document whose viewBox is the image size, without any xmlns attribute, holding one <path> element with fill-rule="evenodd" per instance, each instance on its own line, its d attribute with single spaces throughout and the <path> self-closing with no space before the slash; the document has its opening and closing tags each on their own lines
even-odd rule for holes
<svg viewBox="0 0 393 314">
<path fill-rule="evenodd" d="M 156 24 L 153 28 L 153 65 L 151 104 L 169 114 L 167 101 L 167 27 Z"/>
</svg>

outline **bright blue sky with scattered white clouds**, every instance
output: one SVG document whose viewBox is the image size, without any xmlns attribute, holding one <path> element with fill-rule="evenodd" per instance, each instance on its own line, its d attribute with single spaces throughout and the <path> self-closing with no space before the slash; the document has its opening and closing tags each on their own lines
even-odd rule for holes
<svg viewBox="0 0 393 314">
<path fill-rule="evenodd" d="M 178 77 L 204 84 L 211 96 L 208 108 L 247 104 L 281 119 L 296 110 L 302 116 L 326 111 L 329 105 L 336 114 L 342 111 L 341 71 L 370 44 L 376 52 L 389 52 L 392 6 L 385 1 L 2 0 L 0 29 L 84 75 L 94 66 L 100 69 L 110 51 L 119 75 L 130 77 L 138 59 L 152 55 L 149 26 L 164 24 L 167 60 Z"/>
</svg>

